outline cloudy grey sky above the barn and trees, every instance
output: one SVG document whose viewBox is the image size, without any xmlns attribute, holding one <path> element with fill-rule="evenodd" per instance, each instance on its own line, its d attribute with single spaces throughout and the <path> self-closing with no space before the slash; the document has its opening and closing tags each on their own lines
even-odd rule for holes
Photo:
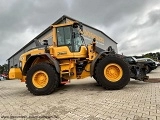
<svg viewBox="0 0 160 120">
<path fill-rule="evenodd" d="M 1 0 L 0 65 L 63 15 L 95 27 L 118 53 L 160 52 L 159 0 Z"/>
</svg>

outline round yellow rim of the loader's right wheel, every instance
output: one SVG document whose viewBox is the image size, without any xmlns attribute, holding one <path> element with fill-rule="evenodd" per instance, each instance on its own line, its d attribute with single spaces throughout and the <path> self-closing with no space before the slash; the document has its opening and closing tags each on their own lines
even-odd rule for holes
<svg viewBox="0 0 160 120">
<path fill-rule="evenodd" d="M 122 78 L 123 70 L 118 64 L 108 64 L 104 68 L 104 76 L 111 82 L 117 82 Z"/>
</svg>

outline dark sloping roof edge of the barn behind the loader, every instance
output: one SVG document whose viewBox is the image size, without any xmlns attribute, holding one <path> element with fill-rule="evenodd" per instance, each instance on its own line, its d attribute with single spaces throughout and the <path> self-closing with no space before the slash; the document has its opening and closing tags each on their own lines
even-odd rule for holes
<svg viewBox="0 0 160 120">
<path fill-rule="evenodd" d="M 63 16 L 60 17 L 57 21 L 55 21 L 52 25 L 56 25 L 56 24 L 60 23 L 61 21 L 65 20 L 66 18 L 68 18 L 68 19 L 70 19 L 70 20 L 73 20 L 73 21 L 78 21 L 78 20 L 75 20 L 75 19 L 73 19 L 73 18 L 71 18 L 71 17 L 69 17 L 69 16 L 67 16 L 67 15 L 63 15 Z M 78 22 L 80 22 L 80 21 L 78 21 Z M 81 23 L 82 23 L 82 22 L 81 22 Z M 89 26 L 89 25 L 87 25 L 87 24 L 85 24 L 85 23 L 82 23 L 82 24 L 85 25 L 85 26 L 87 26 L 87 27 L 89 27 L 89 28 L 92 28 L 92 29 L 94 29 L 94 30 L 96 30 L 96 31 L 101 32 L 103 35 L 105 35 L 106 37 L 108 37 L 110 40 L 112 40 L 114 43 L 117 44 L 117 42 L 115 42 L 113 39 L 111 39 L 109 36 L 107 36 L 104 32 L 102 32 L 102 31 L 100 31 L 100 30 L 98 30 L 98 29 L 96 29 L 96 28 L 94 28 L 94 27 L 91 27 L 91 26 Z M 44 35 L 46 32 L 48 32 L 48 31 L 51 30 L 51 29 L 52 29 L 52 27 L 49 26 L 49 27 L 46 28 L 43 32 L 41 32 L 38 36 L 36 36 L 34 39 L 40 38 L 42 35 Z M 11 59 L 13 56 L 15 56 L 16 54 L 18 54 L 18 53 L 19 53 L 20 51 L 22 51 L 24 48 L 26 48 L 27 46 L 29 46 L 30 44 L 32 44 L 32 43 L 34 42 L 34 39 L 32 39 L 29 43 L 27 43 L 24 47 L 22 47 L 20 50 L 18 50 L 15 54 L 13 54 L 13 55 L 12 55 L 10 58 L 8 58 L 7 60 Z"/>
</svg>

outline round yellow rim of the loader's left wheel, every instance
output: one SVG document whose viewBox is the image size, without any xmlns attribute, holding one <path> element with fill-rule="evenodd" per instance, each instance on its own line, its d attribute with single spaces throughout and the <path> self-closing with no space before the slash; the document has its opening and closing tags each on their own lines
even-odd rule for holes
<svg viewBox="0 0 160 120">
<path fill-rule="evenodd" d="M 37 88 L 44 88 L 48 84 L 48 75 L 44 71 L 37 71 L 32 77 L 32 83 Z"/>
</svg>

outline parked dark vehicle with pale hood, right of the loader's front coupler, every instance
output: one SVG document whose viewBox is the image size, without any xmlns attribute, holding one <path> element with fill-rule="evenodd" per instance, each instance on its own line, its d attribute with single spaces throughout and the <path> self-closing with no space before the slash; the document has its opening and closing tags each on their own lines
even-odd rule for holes
<svg viewBox="0 0 160 120">
<path fill-rule="evenodd" d="M 151 58 L 138 58 L 137 62 L 143 62 L 146 65 L 146 73 L 150 73 L 152 70 L 156 69 L 158 66 Z"/>
</svg>

